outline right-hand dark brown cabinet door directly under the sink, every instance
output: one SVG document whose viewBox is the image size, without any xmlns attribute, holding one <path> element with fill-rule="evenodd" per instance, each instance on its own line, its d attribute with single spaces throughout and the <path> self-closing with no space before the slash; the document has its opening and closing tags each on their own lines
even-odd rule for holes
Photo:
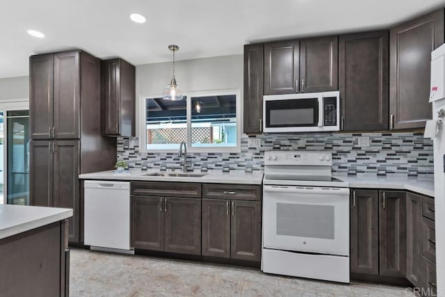
<svg viewBox="0 0 445 297">
<path fill-rule="evenodd" d="M 201 255 L 201 199 L 164 200 L 165 252 Z"/>
</svg>

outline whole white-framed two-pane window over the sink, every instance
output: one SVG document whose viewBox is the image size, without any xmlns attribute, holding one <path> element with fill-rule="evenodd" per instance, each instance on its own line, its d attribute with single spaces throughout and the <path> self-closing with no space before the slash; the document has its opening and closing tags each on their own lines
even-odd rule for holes
<svg viewBox="0 0 445 297">
<path fill-rule="evenodd" d="M 240 90 L 188 92 L 181 101 L 141 95 L 140 150 L 176 152 L 184 141 L 189 152 L 239 152 L 240 94 Z"/>
</svg>

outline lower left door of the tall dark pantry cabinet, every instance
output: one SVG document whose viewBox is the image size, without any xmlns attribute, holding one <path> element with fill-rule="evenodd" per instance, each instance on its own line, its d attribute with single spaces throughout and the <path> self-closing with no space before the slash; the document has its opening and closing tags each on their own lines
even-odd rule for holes
<svg viewBox="0 0 445 297">
<path fill-rule="evenodd" d="M 53 205 L 53 154 L 51 141 L 31 141 L 29 159 L 29 202 L 31 205 Z"/>
</svg>

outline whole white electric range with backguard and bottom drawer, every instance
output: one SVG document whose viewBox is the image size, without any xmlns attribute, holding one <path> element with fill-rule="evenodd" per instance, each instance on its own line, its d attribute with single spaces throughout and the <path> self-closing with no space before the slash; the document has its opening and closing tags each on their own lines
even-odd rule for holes
<svg viewBox="0 0 445 297">
<path fill-rule="evenodd" d="M 349 188 L 331 168 L 330 152 L 265 152 L 262 271 L 350 281 Z"/>
</svg>

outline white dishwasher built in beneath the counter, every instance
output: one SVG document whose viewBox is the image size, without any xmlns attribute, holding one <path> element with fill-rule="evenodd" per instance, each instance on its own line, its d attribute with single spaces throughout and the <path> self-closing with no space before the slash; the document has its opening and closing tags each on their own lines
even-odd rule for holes
<svg viewBox="0 0 445 297">
<path fill-rule="evenodd" d="M 130 183 L 84 184 L 84 243 L 92 250 L 133 253 L 130 248 Z"/>
</svg>

